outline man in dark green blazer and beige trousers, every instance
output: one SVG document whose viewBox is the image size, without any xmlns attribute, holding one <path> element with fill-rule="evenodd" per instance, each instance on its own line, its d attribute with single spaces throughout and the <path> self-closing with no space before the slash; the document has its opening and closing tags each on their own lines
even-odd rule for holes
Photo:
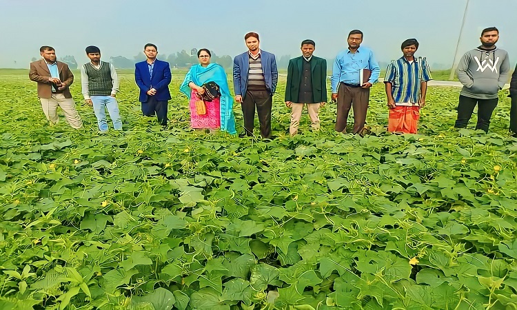
<svg viewBox="0 0 517 310">
<path fill-rule="evenodd" d="M 318 110 L 327 103 L 327 61 L 312 55 L 315 46 L 314 41 L 304 40 L 301 43 L 303 56 L 289 61 L 285 105 L 292 108 L 289 127 L 291 136 L 298 132 L 304 105 L 307 105 L 312 129 L 319 130 Z"/>
</svg>

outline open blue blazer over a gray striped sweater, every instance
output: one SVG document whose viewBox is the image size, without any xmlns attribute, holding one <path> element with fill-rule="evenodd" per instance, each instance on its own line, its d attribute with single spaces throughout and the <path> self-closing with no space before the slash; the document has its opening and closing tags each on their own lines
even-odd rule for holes
<svg viewBox="0 0 517 310">
<path fill-rule="evenodd" d="M 249 52 L 237 55 L 234 58 L 234 91 L 236 96 L 245 96 L 247 90 L 247 73 L 250 70 Z M 273 96 L 278 82 L 278 70 L 274 54 L 261 50 L 261 63 L 264 72 L 265 87 Z"/>
</svg>

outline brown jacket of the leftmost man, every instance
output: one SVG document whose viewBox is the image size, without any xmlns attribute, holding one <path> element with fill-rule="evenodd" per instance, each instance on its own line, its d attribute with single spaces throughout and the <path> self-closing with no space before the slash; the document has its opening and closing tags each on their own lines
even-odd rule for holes
<svg viewBox="0 0 517 310">
<path fill-rule="evenodd" d="M 57 94 L 65 95 L 65 98 L 72 98 L 68 87 L 74 83 L 74 74 L 68 68 L 66 63 L 57 61 L 57 70 L 59 71 L 59 80 L 65 83 L 64 90 L 58 90 Z M 30 63 L 29 79 L 38 83 L 38 97 L 48 99 L 52 96 L 52 85 L 48 79 L 50 78 L 50 71 L 44 59 Z"/>
</svg>

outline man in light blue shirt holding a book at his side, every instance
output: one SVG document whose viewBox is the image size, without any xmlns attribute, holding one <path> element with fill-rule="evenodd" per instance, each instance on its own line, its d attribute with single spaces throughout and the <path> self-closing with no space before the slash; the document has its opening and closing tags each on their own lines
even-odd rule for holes
<svg viewBox="0 0 517 310">
<path fill-rule="evenodd" d="M 378 79 L 381 68 L 372 50 L 361 46 L 363 32 L 348 34 L 348 48 L 336 56 L 332 67 L 332 101 L 337 101 L 338 112 L 334 129 L 347 133 L 347 118 L 354 108 L 354 134 L 362 134 L 366 123 L 369 89 Z M 370 74 L 367 79 L 368 74 Z M 367 81 L 366 81 L 367 80 Z"/>
</svg>

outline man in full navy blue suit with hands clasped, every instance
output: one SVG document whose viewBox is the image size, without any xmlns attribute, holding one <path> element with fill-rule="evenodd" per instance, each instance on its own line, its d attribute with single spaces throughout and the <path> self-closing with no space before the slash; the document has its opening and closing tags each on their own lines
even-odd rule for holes
<svg viewBox="0 0 517 310">
<path fill-rule="evenodd" d="M 142 103 L 143 116 L 158 118 L 163 127 L 167 127 L 167 112 L 170 97 L 169 84 L 171 81 L 170 65 L 166 61 L 156 59 L 158 48 L 148 43 L 143 48 L 146 61 L 136 63 L 134 79 L 140 88 L 139 101 Z"/>
</svg>

